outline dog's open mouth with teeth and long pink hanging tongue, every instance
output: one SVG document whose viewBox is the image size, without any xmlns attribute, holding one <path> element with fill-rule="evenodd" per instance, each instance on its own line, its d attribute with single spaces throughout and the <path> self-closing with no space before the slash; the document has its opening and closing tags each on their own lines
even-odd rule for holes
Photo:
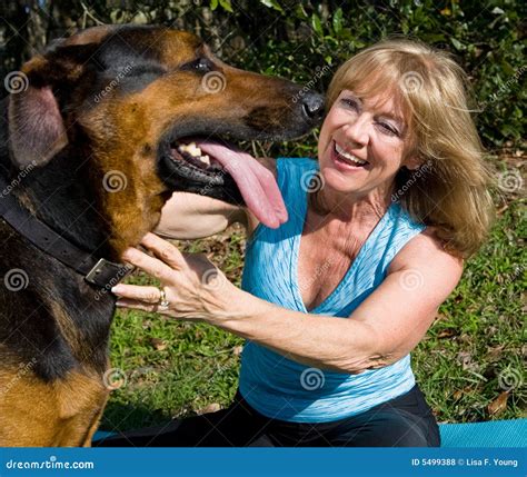
<svg viewBox="0 0 527 477">
<path fill-rule="evenodd" d="M 284 199 L 269 171 L 239 147 L 220 139 L 186 137 L 161 149 L 160 176 L 172 190 L 245 205 L 264 225 L 288 219 Z"/>
</svg>

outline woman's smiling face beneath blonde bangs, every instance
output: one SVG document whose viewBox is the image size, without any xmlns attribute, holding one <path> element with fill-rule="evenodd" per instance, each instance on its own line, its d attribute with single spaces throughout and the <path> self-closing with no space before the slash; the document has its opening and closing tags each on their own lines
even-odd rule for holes
<svg viewBox="0 0 527 477">
<path fill-rule="evenodd" d="M 375 189 L 391 193 L 400 167 L 419 166 L 416 158 L 404 160 L 408 136 L 392 96 L 366 99 L 342 90 L 324 121 L 318 141 L 326 186 L 358 197 Z"/>
</svg>

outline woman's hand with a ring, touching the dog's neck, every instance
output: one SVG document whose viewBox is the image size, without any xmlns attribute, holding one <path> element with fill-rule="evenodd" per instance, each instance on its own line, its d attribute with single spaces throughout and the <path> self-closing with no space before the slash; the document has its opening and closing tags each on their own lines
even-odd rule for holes
<svg viewBox="0 0 527 477">
<path fill-rule="evenodd" d="M 159 279 L 161 286 L 158 288 L 119 284 L 111 289 L 119 298 L 119 307 L 211 324 L 229 315 L 229 304 L 232 304 L 236 294 L 241 290 L 207 257 L 181 254 L 175 246 L 153 233 L 147 233 L 141 245 L 155 257 L 137 248 L 128 248 L 122 259 Z M 168 305 L 162 306 L 163 298 Z"/>
</svg>

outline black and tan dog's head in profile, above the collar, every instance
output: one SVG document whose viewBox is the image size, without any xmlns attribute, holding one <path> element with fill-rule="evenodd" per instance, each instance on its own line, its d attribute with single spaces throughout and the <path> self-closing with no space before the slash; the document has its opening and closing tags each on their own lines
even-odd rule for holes
<svg viewBox="0 0 527 477">
<path fill-rule="evenodd" d="M 12 160 L 83 155 L 117 249 L 155 227 L 172 191 L 242 203 L 220 158 L 186 143 L 290 139 L 322 115 L 320 96 L 229 67 L 196 36 L 162 27 L 89 29 L 22 72 L 29 85 L 9 105 Z"/>
</svg>

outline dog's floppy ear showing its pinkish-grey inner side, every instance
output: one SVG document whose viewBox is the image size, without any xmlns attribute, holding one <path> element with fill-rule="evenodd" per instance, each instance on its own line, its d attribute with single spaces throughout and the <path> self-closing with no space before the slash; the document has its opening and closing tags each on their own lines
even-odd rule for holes
<svg viewBox="0 0 527 477">
<path fill-rule="evenodd" d="M 16 166 L 43 166 L 67 143 L 64 122 L 50 86 L 28 85 L 26 90 L 11 93 L 9 147 Z"/>
</svg>

